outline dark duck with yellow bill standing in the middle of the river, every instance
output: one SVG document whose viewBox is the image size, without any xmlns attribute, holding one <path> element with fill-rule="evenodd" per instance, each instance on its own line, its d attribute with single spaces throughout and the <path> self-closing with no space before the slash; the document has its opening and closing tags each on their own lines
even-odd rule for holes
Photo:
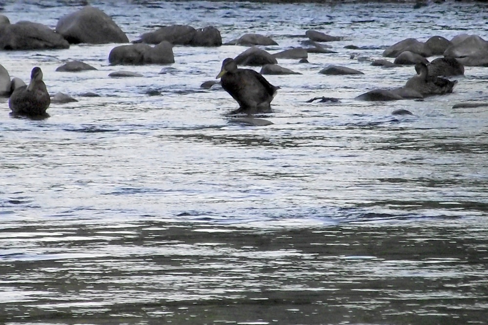
<svg viewBox="0 0 488 325">
<path fill-rule="evenodd" d="M 217 78 L 221 78 L 222 88 L 239 103 L 240 107 L 230 114 L 270 113 L 270 103 L 280 89 L 254 70 L 238 69 L 232 58 L 222 62 L 222 70 Z"/>
</svg>

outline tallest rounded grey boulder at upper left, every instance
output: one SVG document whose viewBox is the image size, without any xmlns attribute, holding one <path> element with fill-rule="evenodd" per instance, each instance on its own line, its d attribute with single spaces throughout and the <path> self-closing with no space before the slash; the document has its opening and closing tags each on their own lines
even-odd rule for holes
<svg viewBox="0 0 488 325">
<path fill-rule="evenodd" d="M 56 32 L 71 44 L 129 42 L 122 29 L 107 14 L 92 6 L 61 17 Z"/>
</svg>

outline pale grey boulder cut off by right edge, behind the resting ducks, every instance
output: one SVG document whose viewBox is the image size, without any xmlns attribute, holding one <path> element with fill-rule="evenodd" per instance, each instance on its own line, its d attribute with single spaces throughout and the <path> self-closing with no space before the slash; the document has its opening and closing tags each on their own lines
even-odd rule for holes
<svg viewBox="0 0 488 325">
<path fill-rule="evenodd" d="M 465 66 L 488 66 L 488 42 L 477 35 L 459 35 L 444 52 Z"/>
</svg>

